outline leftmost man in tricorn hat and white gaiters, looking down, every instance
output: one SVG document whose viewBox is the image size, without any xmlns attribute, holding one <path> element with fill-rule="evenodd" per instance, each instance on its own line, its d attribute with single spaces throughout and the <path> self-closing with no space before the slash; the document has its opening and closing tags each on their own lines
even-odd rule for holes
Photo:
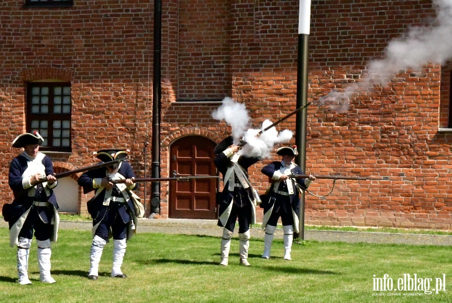
<svg viewBox="0 0 452 303">
<path fill-rule="evenodd" d="M 4 217 L 9 222 L 10 245 L 18 247 L 20 284 L 31 284 L 27 269 L 33 231 L 38 245 L 39 280 L 55 282 L 50 275 L 50 247 L 51 241 L 57 239 L 59 222 L 59 206 L 52 191 L 57 180 L 52 160 L 39 152 L 43 142 L 38 132 L 23 133 L 13 141 L 13 147 L 24 150 L 10 165 L 9 185 L 14 201 L 4 207 Z"/>
</svg>

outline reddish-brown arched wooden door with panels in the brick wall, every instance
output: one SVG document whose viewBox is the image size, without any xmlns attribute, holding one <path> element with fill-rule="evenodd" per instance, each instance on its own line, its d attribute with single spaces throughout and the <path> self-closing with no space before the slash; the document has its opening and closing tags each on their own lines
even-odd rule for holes
<svg viewBox="0 0 452 303">
<path fill-rule="evenodd" d="M 170 174 L 217 176 L 213 164 L 216 143 L 201 136 L 186 136 L 170 147 Z M 169 184 L 169 217 L 216 219 L 215 194 L 219 180 L 196 179 Z"/>
</svg>

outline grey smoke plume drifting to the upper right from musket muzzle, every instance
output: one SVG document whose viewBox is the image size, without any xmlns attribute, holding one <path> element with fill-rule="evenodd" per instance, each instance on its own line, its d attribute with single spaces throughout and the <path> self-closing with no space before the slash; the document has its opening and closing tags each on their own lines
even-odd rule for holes
<svg viewBox="0 0 452 303">
<path fill-rule="evenodd" d="M 383 59 L 367 64 L 368 75 L 346 89 L 331 96 L 336 102 L 348 100 L 352 94 L 369 91 L 375 84 L 385 86 L 400 70 L 420 71 L 431 62 L 444 64 L 452 58 L 452 1 L 434 0 L 436 19 L 428 27 L 413 27 L 409 32 L 389 42 Z M 347 103 L 347 102 L 346 102 Z"/>
</svg>

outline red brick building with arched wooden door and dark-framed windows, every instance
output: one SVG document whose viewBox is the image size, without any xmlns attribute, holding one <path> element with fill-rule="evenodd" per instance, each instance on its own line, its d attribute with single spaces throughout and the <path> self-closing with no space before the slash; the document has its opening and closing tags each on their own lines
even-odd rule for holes
<svg viewBox="0 0 452 303">
<path fill-rule="evenodd" d="M 63 172 L 94 164 L 93 151 L 129 148 L 150 176 L 154 2 L 5 0 L 0 4 L 0 189 L 12 200 L 14 138 L 39 129 L 41 150 Z M 215 174 L 212 149 L 230 129 L 211 118 L 225 96 L 258 126 L 295 109 L 298 1 L 164 1 L 161 175 Z M 367 63 L 414 26 L 436 17 L 431 1 L 312 1 L 309 100 L 359 83 Z M 439 42 L 438 42 L 439 43 Z M 306 195 L 306 224 L 452 228 L 450 66 L 425 62 L 355 96 L 345 113 L 308 108 L 307 171 L 389 176 L 336 182 Z M 294 130 L 294 119 L 281 129 Z M 150 142 L 146 145 L 146 142 Z M 291 142 L 293 143 L 293 142 Z M 251 181 L 262 193 L 260 173 Z M 73 178 L 60 179 L 62 211 L 86 212 Z M 162 183 L 161 214 L 215 218 L 211 180 Z M 330 182 L 318 180 L 313 192 Z M 150 185 L 141 187 L 149 213 Z M 194 203 L 196 201 L 196 203 Z M 261 212 L 258 212 L 262 216 Z"/>
</svg>

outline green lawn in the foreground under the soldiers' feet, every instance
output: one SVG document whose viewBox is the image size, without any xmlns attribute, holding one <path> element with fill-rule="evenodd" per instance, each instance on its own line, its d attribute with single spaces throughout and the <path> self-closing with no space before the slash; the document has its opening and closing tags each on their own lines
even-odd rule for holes
<svg viewBox="0 0 452 303">
<path fill-rule="evenodd" d="M 219 235 L 220 230 L 218 237 L 138 234 L 128 242 L 123 264 L 127 279 L 109 277 L 112 243 L 108 243 L 99 279 L 91 281 L 86 278 L 90 232 L 60 230 L 52 246 L 52 276 L 57 282 L 39 282 L 34 239 L 29 261 L 33 284 L 19 285 L 16 248 L 9 246 L 8 229 L 0 228 L 0 302 L 452 302 L 452 257 L 447 246 L 307 241 L 294 244 L 293 260 L 286 261 L 282 240 L 274 241 L 270 260 L 260 258 L 263 241 L 252 240 L 252 266 L 244 267 L 239 266 L 239 243 L 234 238 L 230 265 L 222 267 L 217 265 Z M 435 278 L 445 274 L 446 291 L 373 290 L 374 275 L 388 274 L 397 287 L 404 273 L 432 278 L 430 289 L 435 288 Z"/>
</svg>

